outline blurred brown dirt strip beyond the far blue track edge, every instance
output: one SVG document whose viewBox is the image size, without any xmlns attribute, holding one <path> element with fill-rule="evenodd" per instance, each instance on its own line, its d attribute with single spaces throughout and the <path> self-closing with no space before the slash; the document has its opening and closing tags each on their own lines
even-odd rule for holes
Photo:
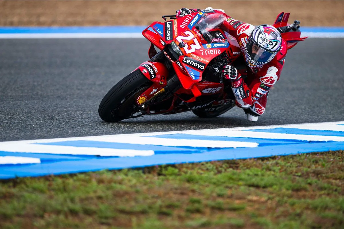
<svg viewBox="0 0 344 229">
<path fill-rule="evenodd" d="M 254 25 L 278 13 L 302 26 L 344 26 L 344 1 L 0 1 L 0 26 L 149 25 L 176 9 L 212 6 Z"/>
</svg>

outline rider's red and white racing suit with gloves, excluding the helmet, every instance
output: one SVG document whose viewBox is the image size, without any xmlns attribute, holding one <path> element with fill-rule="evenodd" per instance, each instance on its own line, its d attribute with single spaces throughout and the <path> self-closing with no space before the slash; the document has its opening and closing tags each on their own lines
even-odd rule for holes
<svg viewBox="0 0 344 229">
<path fill-rule="evenodd" d="M 201 10 L 190 9 L 191 13 L 199 11 Z M 185 13 L 185 10 L 183 12 Z M 246 69 L 236 69 L 228 64 L 223 68 L 223 76 L 231 84 L 236 105 L 244 109 L 249 121 L 257 121 L 258 116 L 265 112 L 269 90 L 279 80 L 284 58 L 287 54 L 286 41 L 282 39 L 282 47 L 271 61 L 263 66 L 256 67 L 245 56 L 248 38 L 255 26 L 235 20 L 224 13 L 223 10 L 207 8 L 206 13 L 210 17 L 211 14 L 215 14 L 214 19 L 218 17 L 218 14 L 224 15 L 226 20 L 223 21 L 220 28 L 232 35 L 240 46 L 241 55 L 246 60 Z M 242 75 L 246 74 L 247 78 L 244 81 Z"/>
</svg>

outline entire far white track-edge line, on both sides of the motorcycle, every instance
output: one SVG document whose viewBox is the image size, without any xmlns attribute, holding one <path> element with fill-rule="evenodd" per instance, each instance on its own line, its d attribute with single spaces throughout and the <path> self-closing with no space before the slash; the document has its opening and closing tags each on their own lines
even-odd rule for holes
<svg viewBox="0 0 344 229">
<path fill-rule="evenodd" d="M 302 32 L 309 38 L 344 38 L 343 32 Z M 0 39 L 27 38 L 144 38 L 142 33 L 0 33 Z"/>
</svg>

